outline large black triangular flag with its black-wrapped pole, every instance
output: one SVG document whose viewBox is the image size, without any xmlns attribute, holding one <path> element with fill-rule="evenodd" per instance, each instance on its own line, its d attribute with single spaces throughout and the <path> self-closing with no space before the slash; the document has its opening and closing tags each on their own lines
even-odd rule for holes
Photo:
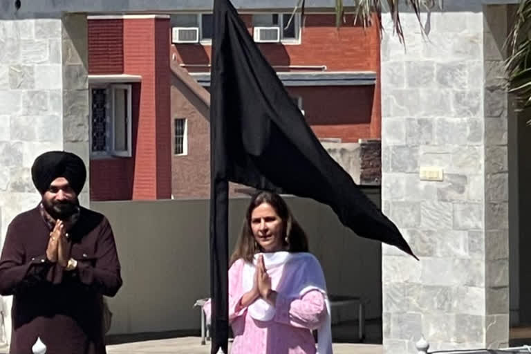
<svg viewBox="0 0 531 354">
<path fill-rule="evenodd" d="M 414 254 L 322 147 L 229 0 L 214 0 L 211 134 L 212 353 L 227 353 L 227 181 L 313 198 L 356 234 Z"/>
</svg>

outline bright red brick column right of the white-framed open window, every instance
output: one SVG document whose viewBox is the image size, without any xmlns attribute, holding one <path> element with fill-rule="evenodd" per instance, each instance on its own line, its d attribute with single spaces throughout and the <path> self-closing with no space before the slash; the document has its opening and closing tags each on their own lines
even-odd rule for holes
<svg viewBox="0 0 531 354">
<path fill-rule="evenodd" d="M 169 17 L 124 18 L 124 73 L 142 75 L 133 199 L 170 198 Z"/>
</svg>

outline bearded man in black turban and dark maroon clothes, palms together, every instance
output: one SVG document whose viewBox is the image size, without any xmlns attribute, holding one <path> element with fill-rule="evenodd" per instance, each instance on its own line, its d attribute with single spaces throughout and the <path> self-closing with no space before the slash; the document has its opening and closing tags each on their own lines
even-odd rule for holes
<svg viewBox="0 0 531 354">
<path fill-rule="evenodd" d="M 103 354 L 103 295 L 120 286 L 109 221 L 80 206 L 81 158 L 50 151 L 33 163 L 41 203 L 16 216 L 0 257 L 0 295 L 14 295 L 10 353 L 32 353 L 37 338 L 51 354 Z"/>
</svg>

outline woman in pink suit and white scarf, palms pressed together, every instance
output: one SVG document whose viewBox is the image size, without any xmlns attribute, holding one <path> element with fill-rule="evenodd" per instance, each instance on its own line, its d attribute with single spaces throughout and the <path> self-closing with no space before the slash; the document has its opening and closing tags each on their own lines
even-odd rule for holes
<svg viewBox="0 0 531 354">
<path fill-rule="evenodd" d="M 331 354 L 329 314 L 304 230 L 281 196 L 254 195 L 229 270 L 231 353 Z"/>
</svg>

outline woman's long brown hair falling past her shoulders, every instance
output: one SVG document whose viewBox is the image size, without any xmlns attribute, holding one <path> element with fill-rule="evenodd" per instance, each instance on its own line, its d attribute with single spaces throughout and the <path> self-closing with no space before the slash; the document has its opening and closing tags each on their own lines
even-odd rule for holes
<svg viewBox="0 0 531 354">
<path fill-rule="evenodd" d="M 276 193 L 258 192 L 252 196 L 247 212 L 245 213 L 245 220 L 241 227 L 240 237 L 230 257 L 231 265 L 240 258 L 252 262 L 254 254 L 262 252 L 260 245 L 254 240 L 254 235 L 252 234 L 251 216 L 253 210 L 263 203 L 271 205 L 282 221 L 282 239 L 286 246 L 286 251 L 308 252 L 308 237 L 306 237 L 306 233 L 291 214 L 283 198 Z"/>
</svg>

